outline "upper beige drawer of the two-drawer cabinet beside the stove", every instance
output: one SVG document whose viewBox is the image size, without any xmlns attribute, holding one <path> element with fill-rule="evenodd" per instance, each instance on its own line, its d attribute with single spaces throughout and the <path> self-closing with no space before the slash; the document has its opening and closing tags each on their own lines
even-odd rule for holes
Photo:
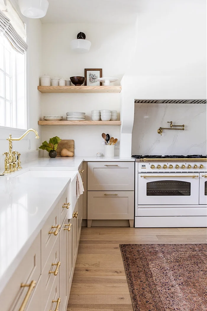
<svg viewBox="0 0 207 311">
<path fill-rule="evenodd" d="M 88 190 L 134 190 L 134 162 L 88 162 Z"/>
</svg>

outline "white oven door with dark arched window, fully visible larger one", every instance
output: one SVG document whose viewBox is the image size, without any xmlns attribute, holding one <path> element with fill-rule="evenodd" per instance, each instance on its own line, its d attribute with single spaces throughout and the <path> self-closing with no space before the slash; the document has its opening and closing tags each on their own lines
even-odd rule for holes
<svg viewBox="0 0 207 311">
<path fill-rule="evenodd" d="M 199 204 L 199 175 L 138 174 L 138 205 Z"/>
</svg>

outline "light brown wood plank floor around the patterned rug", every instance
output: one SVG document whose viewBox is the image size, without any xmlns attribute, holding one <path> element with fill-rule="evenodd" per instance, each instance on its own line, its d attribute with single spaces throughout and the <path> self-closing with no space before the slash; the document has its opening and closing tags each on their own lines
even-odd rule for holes
<svg viewBox="0 0 207 311">
<path fill-rule="evenodd" d="M 67 311 L 133 311 L 119 244 L 206 243 L 206 228 L 82 228 Z"/>
</svg>

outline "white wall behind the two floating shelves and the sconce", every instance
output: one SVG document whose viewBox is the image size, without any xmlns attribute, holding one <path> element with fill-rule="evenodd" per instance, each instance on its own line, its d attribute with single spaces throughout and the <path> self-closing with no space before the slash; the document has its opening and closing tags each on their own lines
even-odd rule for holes
<svg viewBox="0 0 207 311">
<path fill-rule="evenodd" d="M 103 77 L 121 79 L 129 66 L 135 25 L 43 24 L 42 29 L 42 74 L 67 78 L 84 76 L 84 68 L 102 68 Z M 70 49 L 70 41 L 79 31 L 92 42 L 89 53 L 78 54 Z M 119 85 L 120 80 L 116 84 Z M 41 101 L 42 118 L 48 114 L 60 114 L 65 118 L 67 111 L 82 111 L 86 112 L 86 120 L 90 120 L 93 109 L 120 110 L 120 94 L 42 94 Z M 104 151 L 102 132 L 119 139 L 120 127 L 45 126 L 42 127 L 42 139 L 54 135 L 74 139 L 75 155 L 95 155 Z"/>
</svg>

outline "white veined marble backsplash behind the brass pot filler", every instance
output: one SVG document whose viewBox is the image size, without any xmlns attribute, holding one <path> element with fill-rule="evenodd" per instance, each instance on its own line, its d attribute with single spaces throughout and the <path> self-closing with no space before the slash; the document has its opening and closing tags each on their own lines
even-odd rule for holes
<svg viewBox="0 0 207 311">
<path fill-rule="evenodd" d="M 173 124 L 185 124 L 185 130 L 163 130 Z M 135 104 L 132 154 L 206 155 L 205 104 Z"/>
</svg>

